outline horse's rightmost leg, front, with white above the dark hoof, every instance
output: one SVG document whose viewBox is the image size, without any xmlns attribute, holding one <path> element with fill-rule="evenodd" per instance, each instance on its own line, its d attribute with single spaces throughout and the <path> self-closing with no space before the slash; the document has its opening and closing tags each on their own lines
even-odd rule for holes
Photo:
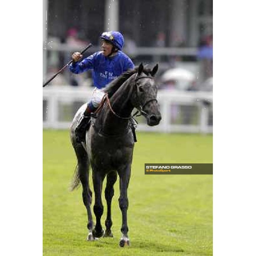
<svg viewBox="0 0 256 256">
<path fill-rule="evenodd" d="M 125 168 L 121 168 L 117 170 L 119 178 L 120 178 L 120 197 L 119 207 L 122 212 L 122 237 L 120 239 L 119 245 L 121 247 L 125 245 L 130 245 L 130 240 L 128 238 L 128 225 L 127 225 L 127 210 L 128 210 L 128 196 L 127 189 L 129 185 L 129 180 L 131 177 L 131 164 L 125 166 Z"/>
</svg>

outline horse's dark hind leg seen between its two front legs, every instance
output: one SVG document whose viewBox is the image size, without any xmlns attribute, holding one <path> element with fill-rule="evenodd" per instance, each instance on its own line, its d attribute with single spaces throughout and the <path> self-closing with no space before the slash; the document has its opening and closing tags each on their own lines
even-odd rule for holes
<svg viewBox="0 0 256 256">
<path fill-rule="evenodd" d="M 105 199 L 107 201 L 108 211 L 105 221 L 106 230 L 104 237 L 113 237 L 111 232 L 112 220 L 111 220 L 111 201 L 114 195 L 114 184 L 116 183 L 117 173 L 116 171 L 110 172 L 107 176 L 107 185 L 105 189 Z"/>
</svg>

